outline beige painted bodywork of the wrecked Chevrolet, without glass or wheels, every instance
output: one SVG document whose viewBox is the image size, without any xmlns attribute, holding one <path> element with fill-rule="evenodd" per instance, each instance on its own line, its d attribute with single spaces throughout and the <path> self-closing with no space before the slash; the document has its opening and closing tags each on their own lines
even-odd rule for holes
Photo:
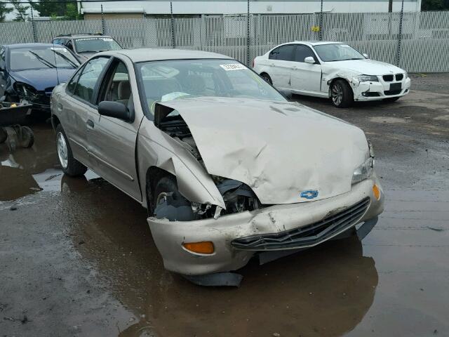
<svg viewBox="0 0 449 337">
<path fill-rule="evenodd" d="M 152 168 L 173 174 L 180 193 L 198 204 L 225 209 L 211 177 L 215 175 L 246 183 L 262 204 L 273 205 L 189 222 L 149 217 L 154 241 L 168 270 L 185 275 L 236 270 L 248 263 L 255 251 L 234 249 L 233 239 L 310 225 L 367 197 L 368 208 L 351 226 L 382 212 L 384 194 L 375 175 L 351 185 L 354 169 L 369 157 L 366 137 L 359 128 L 295 103 L 237 98 L 159 103 L 185 119 L 203 158 L 201 164 L 181 140 L 157 128 L 152 116 L 145 117 L 133 63 L 229 58 L 199 51 L 153 49 L 99 55 L 119 58 L 128 67 L 135 119 L 127 123 L 100 116 L 95 107 L 67 95 L 65 84 L 57 86 L 51 99 L 52 114 L 58 117 L 72 148 L 82 140 L 74 134 L 81 132 L 84 119 L 93 121 L 93 128 L 86 129 L 87 156 L 74 151 L 76 159 L 145 207 Z M 74 117 L 83 104 L 82 118 Z M 379 198 L 373 195 L 373 185 L 380 188 Z M 313 201 L 300 197 L 309 189 L 319 190 Z M 184 242 L 209 240 L 215 246 L 210 255 L 182 247 Z"/>
</svg>

